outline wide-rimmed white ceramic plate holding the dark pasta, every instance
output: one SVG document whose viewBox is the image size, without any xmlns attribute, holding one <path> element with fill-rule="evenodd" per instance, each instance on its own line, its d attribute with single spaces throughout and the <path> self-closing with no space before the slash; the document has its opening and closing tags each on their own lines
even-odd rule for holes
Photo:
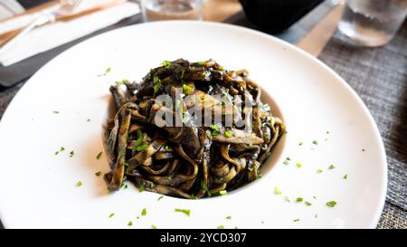
<svg viewBox="0 0 407 247">
<path fill-rule="evenodd" d="M 109 85 L 139 80 L 160 62 L 181 57 L 248 69 L 277 102 L 270 104 L 283 114 L 286 139 L 259 180 L 229 195 L 157 201 L 159 195 L 139 193 L 133 185 L 108 195 L 102 176 L 94 174 L 109 171 L 106 157 L 96 159 Z M 109 73 L 98 76 L 107 68 Z M 5 112 L 0 137 L 0 214 L 6 228 L 129 228 L 130 220 L 131 228 L 374 227 L 386 191 L 383 143 L 355 91 L 296 47 L 227 24 L 137 24 L 80 43 L 24 85 Z M 66 150 L 55 156 L 60 147 Z M 289 166 L 283 165 L 286 157 Z M 77 187 L 78 181 L 83 185 Z M 295 202 L 297 197 L 312 205 Z M 326 205 L 332 200 L 334 208 Z M 137 219 L 143 208 L 147 215 Z M 191 216 L 175 208 L 190 209 Z"/>
</svg>

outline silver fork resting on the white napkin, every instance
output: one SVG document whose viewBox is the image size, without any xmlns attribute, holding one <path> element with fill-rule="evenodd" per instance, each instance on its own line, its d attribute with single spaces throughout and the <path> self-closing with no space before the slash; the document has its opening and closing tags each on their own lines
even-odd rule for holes
<svg viewBox="0 0 407 247">
<path fill-rule="evenodd" d="M 0 54 L 7 51 L 17 43 L 19 40 L 24 38 L 24 36 L 32 31 L 35 27 L 41 26 L 43 24 L 49 24 L 55 22 L 55 19 L 60 16 L 72 14 L 72 12 L 80 5 L 82 0 L 60 0 L 60 7 L 52 11 L 51 13 L 41 14 L 33 20 L 32 23 L 25 26 L 20 32 L 16 33 L 8 41 L 5 41 L 0 46 Z"/>
</svg>

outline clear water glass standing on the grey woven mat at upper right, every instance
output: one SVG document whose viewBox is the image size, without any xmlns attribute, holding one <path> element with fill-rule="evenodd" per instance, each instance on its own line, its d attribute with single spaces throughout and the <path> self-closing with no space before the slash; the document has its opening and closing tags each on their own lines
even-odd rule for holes
<svg viewBox="0 0 407 247">
<path fill-rule="evenodd" d="M 381 46 L 392 40 L 407 14 L 407 0 L 347 0 L 339 30 L 352 43 Z"/>
</svg>

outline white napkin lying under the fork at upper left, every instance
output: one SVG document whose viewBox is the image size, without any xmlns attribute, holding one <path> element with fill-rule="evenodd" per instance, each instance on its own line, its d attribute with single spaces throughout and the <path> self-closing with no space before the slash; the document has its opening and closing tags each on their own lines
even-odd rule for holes
<svg viewBox="0 0 407 247">
<path fill-rule="evenodd" d="M 84 1 L 89 7 L 89 3 L 97 5 L 98 2 L 107 2 L 109 0 L 91 0 Z M 55 7 L 53 7 L 55 8 Z M 80 5 L 78 11 L 83 10 Z M 44 10 L 50 11 L 50 9 Z M 20 62 L 40 52 L 45 52 L 55 48 L 63 43 L 69 43 L 75 39 L 93 33 L 103 27 L 118 23 L 118 21 L 137 14 L 140 9 L 135 3 L 123 3 L 115 5 L 93 14 L 87 14 L 69 22 L 56 22 L 38 27 L 27 33 L 18 43 L 14 43 L 10 49 L 0 54 L 0 63 L 9 66 L 15 62 Z M 0 23 L 0 33 L 5 33 L 16 28 L 21 28 L 33 21 L 38 14 L 23 15 L 18 18 Z"/>
</svg>

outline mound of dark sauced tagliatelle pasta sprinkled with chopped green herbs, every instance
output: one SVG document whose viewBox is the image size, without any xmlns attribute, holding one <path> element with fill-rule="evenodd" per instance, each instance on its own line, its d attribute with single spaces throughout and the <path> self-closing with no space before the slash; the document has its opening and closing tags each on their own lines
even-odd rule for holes
<svg viewBox="0 0 407 247">
<path fill-rule="evenodd" d="M 109 191 L 128 180 L 140 190 L 196 199 L 257 179 L 285 126 L 248 75 L 213 60 L 179 59 L 139 83 L 111 86 L 117 112 L 107 128 Z"/>
</svg>

